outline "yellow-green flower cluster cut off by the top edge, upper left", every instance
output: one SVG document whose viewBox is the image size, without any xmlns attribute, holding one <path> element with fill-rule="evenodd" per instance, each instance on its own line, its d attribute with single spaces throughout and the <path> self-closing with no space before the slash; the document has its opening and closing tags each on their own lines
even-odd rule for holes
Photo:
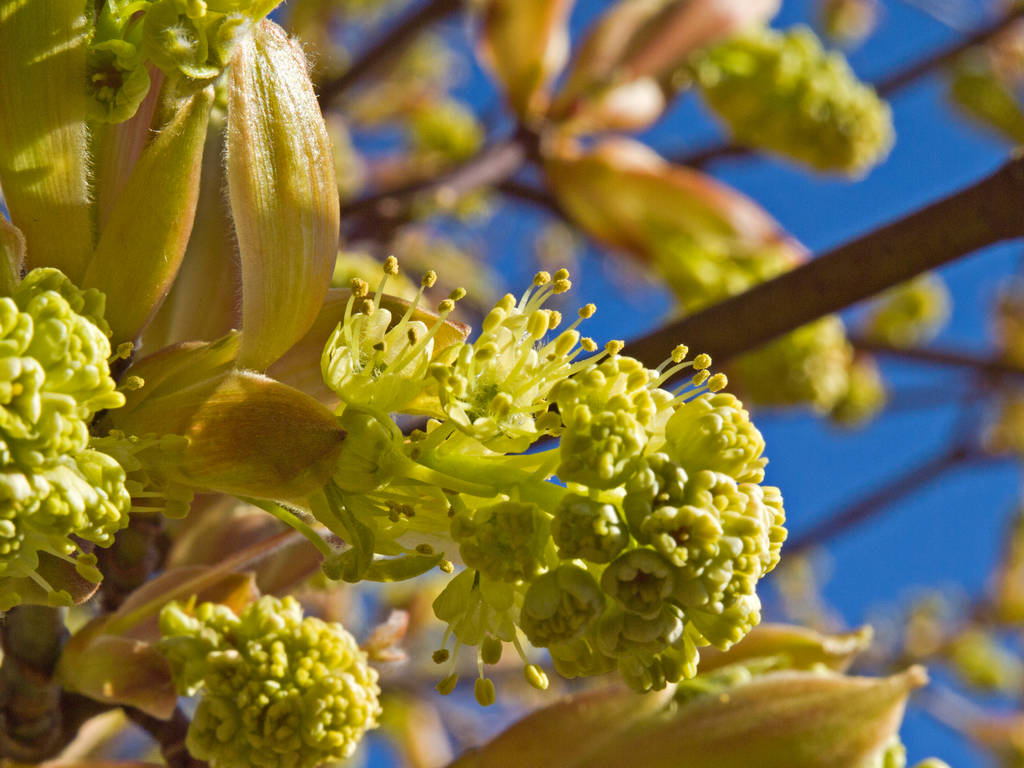
<svg viewBox="0 0 1024 768">
<path fill-rule="evenodd" d="M 128 120 L 150 90 L 152 62 L 169 77 L 210 81 L 234 42 L 279 0 L 110 0 L 89 46 L 90 109 L 96 120 Z"/>
</svg>

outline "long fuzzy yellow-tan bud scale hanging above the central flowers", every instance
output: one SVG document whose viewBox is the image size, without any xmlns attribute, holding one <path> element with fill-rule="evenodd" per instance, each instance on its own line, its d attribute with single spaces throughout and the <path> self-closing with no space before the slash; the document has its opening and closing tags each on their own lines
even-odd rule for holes
<svg viewBox="0 0 1024 768">
<path fill-rule="evenodd" d="M 227 185 L 242 257 L 240 362 L 264 370 L 312 326 L 338 252 L 334 156 L 302 50 L 271 22 L 231 62 Z"/>
</svg>

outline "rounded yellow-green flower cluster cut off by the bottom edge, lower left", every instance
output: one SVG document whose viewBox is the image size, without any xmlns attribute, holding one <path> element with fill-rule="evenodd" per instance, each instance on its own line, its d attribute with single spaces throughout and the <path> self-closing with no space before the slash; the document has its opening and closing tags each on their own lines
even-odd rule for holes
<svg viewBox="0 0 1024 768">
<path fill-rule="evenodd" d="M 213 768 L 315 768 L 350 757 L 377 726 L 367 654 L 341 625 L 303 618 L 292 597 L 239 615 L 172 602 L 160 629 L 178 690 L 201 693 L 185 745 Z"/>
</svg>

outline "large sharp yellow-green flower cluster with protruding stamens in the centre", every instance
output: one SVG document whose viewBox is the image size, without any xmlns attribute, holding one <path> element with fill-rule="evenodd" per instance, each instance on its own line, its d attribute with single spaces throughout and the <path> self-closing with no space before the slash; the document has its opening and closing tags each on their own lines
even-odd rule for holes
<svg viewBox="0 0 1024 768">
<path fill-rule="evenodd" d="M 679 347 L 650 370 L 622 342 L 599 351 L 578 331 L 593 305 L 564 330 L 545 307 L 568 288 L 564 270 L 539 273 L 521 298 L 498 302 L 475 341 L 433 351 L 425 340 L 438 338 L 453 299 L 434 326 L 414 329 L 415 304 L 397 322 L 375 319 L 381 300 L 356 290 L 349 309 L 361 311 L 346 312 L 325 352 L 348 434 L 335 489 L 313 513 L 356 543 L 337 570 L 351 579 L 429 557 L 399 540 L 436 543 L 438 524 L 447 528 L 467 568 L 434 610 L 449 625 L 444 646 L 453 636 L 456 650 L 479 646 L 483 705 L 494 700 L 484 665 L 502 643 L 528 662 L 523 640 L 570 677 L 617 668 L 647 690 L 693 675 L 698 646 L 728 647 L 758 623 L 755 588 L 785 537 L 778 489 L 760 484 L 764 440 L 719 392 L 711 358 Z M 664 386 L 684 373 L 678 389 Z M 396 402 L 433 418 L 406 439 L 380 412 Z M 543 437 L 558 446 L 524 453 Z M 371 560 L 366 546 L 400 556 Z M 446 647 L 435 657 L 455 664 Z M 528 663 L 526 676 L 546 685 Z"/>
</svg>

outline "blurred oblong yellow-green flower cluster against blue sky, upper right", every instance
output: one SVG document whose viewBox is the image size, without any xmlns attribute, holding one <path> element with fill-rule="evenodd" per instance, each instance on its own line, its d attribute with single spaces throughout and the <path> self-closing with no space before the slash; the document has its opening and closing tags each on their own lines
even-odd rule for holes
<svg viewBox="0 0 1024 768">
<path fill-rule="evenodd" d="M 744 33 L 700 54 L 693 70 L 741 143 L 852 174 L 878 164 L 892 145 L 889 106 L 806 28 Z"/>
</svg>

